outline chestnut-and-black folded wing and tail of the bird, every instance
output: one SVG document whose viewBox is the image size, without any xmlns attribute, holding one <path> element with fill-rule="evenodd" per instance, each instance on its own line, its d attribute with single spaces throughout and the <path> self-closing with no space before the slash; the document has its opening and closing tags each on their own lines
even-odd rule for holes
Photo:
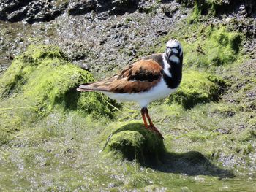
<svg viewBox="0 0 256 192">
<path fill-rule="evenodd" d="M 120 73 L 106 80 L 80 85 L 78 91 L 110 91 L 114 93 L 148 91 L 159 82 L 162 73 L 162 66 L 156 61 L 143 59 L 127 66 Z"/>
</svg>

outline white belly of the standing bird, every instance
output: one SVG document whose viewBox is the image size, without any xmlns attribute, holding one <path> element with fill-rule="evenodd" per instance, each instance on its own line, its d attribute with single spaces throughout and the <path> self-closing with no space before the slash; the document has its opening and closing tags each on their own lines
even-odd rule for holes
<svg viewBox="0 0 256 192">
<path fill-rule="evenodd" d="M 116 99 L 118 101 L 135 101 L 140 104 L 140 107 L 146 107 L 151 101 L 155 101 L 157 99 L 163 99 L 176 91 L 177 88 L 171 89 L 168 88 L 165 80 L 161 78 L 159 83 L 151 88 L 149 91 L 145 91 L 142 93 L 111 93 L 107 91 L 102 91 L 111 99 Z"/>
</svg>

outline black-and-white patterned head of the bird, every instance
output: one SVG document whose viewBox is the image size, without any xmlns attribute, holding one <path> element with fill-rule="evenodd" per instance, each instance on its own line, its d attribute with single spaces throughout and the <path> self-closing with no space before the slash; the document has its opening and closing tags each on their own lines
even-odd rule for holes
<svg viewBox="0 0 256 192">
<path fill-rule="evenodd" d="M 176 39 L 170 39 L 166 43 L 165 58 L 167 61 L 180 63 L 183 57 L 181 43 Z"/>
</svg>

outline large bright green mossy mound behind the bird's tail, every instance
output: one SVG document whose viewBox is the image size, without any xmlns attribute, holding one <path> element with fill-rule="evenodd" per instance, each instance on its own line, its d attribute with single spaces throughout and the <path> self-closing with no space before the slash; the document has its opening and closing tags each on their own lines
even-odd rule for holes
<svg viewBox="0 0 256 192">
<path fill-rule="evenodd" d="M 59 47 L 31 45 L 1 77 L 0 97 L 29 102 L 40 116 L 59 107 L 112 117 L 108 103 L 113 101 L 99 93 L 76 91 L 78 85 L 92 81 L 94 77 L 69 63 Z"/>
</svg>

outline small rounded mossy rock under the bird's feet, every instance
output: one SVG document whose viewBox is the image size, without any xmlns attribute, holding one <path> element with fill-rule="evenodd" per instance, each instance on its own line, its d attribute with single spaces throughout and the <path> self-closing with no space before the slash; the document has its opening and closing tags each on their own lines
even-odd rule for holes
<svg viewBox="0 0 256 192">
<path fill-rule="evenodd" d="M 129 123 L 110 135 L 107 151 L 140 164 L 157 164 L 165 154 L 165 146 L 159 135 L 148 131 L 141 123 Z"/>
</svg>

